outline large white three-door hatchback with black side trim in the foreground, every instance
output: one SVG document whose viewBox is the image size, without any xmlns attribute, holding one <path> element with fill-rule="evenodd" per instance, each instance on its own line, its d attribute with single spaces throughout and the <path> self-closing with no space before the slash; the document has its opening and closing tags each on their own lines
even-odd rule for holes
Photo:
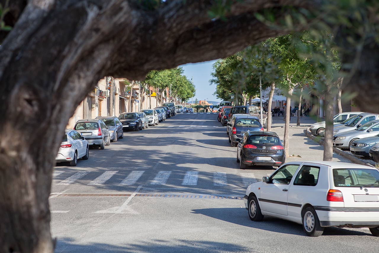
<svg viewBox="0 0 379 253">
<path fill-rule="evenodd" d="M 253 221 L 264 215 L 302 224 L 308 236 L 329 226 L 370 228 L 379 236 L 379 171 L 340 162 L 283 164 L 249 185 L 245 207 Z"/>
</svg>

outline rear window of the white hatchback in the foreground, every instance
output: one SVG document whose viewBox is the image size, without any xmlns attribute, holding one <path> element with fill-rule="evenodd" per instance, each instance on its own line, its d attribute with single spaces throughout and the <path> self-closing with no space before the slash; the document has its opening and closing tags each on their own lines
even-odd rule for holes
<svg viewBox="0 0 379 253">
<path fill-rule="evenodd" d="M 333 180 L 335 187 L 379 188 L 379 171 L 377 169 L 333 169 Z"/>
</svg>

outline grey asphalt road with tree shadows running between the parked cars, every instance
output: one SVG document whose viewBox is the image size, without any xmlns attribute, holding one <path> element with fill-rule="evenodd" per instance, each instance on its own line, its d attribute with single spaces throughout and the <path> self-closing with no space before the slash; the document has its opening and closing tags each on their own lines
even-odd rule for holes
<svg viewBox="0 0 379 253">
<path fill-rule="evenodd" d="M 367 229 L 311 238 L 288 221 L 251 221 L 246 186 L 274 170 L 240 170 L 216 117 L 176 115 L 91 149 L 76 167 L 56 166 L 56 252 L 377 252 Z"/>
</svg>

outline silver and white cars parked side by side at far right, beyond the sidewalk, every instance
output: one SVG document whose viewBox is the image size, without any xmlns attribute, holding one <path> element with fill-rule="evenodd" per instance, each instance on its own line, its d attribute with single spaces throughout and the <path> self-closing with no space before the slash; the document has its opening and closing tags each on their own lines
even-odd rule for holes
<svg viewBox="0 0 379 253">
<path fill-rule="evenodd" d="M 344 121 L 340 122 L 341 120 Z M 325 122 L 310 127 L 312 134 L 325 131 Z M 349 149 L 351 153 L 371 157 L 379 162 L 379 114 L 370 112 L 343 112 L 334 116 L 333 146 Z"/>
</svg>

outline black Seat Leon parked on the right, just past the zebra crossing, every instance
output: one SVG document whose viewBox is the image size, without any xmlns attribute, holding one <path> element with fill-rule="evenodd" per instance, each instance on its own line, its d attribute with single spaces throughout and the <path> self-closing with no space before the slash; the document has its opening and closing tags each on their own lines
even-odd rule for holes
<svg viewBox="0 0 379 253">
<path fill-rule="evenodd" d="M 275 132 L 251 131 L 237 139 L 237 163 L 240 169 L 252 165 L 281 166 L 285 163 L 282 141 Z"/>
</svg>

